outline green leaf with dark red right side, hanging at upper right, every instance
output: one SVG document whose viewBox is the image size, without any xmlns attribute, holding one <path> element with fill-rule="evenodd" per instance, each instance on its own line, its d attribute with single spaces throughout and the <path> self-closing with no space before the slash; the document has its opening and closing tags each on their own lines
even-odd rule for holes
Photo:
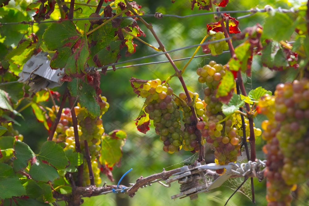
<svg viewBox="0 0 309 206">
<path fill-rule="evenodd" d="M 287 44 L 287 43 L 286 43 Z M 290 46 L 290 44 L 287 44 Z M 262 64 L 271 70 L 283 70 L 293 67 L 298 68 L 298 53 L 292 52 L 290 48 L 283 47 L 279 42 L 266 40 L 262 53 Z"/>
</svg>

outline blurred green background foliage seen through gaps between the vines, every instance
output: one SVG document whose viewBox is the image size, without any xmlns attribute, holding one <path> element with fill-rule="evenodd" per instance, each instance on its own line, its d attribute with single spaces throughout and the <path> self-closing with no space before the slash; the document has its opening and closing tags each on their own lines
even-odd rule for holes
<svg viewBox="0 0 309 206">
<path fill-rule="evenodd" d="M 194 11 L 191 10 L 191 4 L 189 0 L 176 0 L 173 4 L 169 0 L 136 0 L 136 2 L 142 6 L 142 10 L 145 14 L 154 14 L 155 12 L 161 12 L 163 14 L 170 15 L 190 15 L 197 13 L 207 13 L 207 11 L 198 10 L 195 7 Z M 269 4 L 273 8 L 289 8 L 289 6 L 295 4 L 298 1 L 290 1 L 292 4 L 288 4 L 287 1 L 254 1 L 254 0 L 233 0 L 224 8 L 220 8 L 221 11 L 232 11 L 232 10 L 248 10 L 254 7 L 263 8 Z M 239 17 L 248 13 L 235 13 L 231 14 L 232 17 Z M 254 26 L 256 23 L 263 24 L 266 13 L 256 13 L 247 18 L 239 19 L 239 28 L 243 30 L 246 27 Z M 151 23 L 154 27 L 160 40 L 165 45 L 167 50 L 181 48 L 193 44 L 199 44 L 206 34 L 206 24 L 214 22 L 213 15 L 202 15 L 190 18 L 175 18 L 175 17 L 164 17 L 162 19 L 156 19 L 154 17 L 145 17 L 144 19 Z M 146 29 L 141 22 L 138 22 L 142 31 L 146 33 L 146 37 L 142 37 L 146 42 L 158 46 L 155 38 Z M 41 24 L 40 27 L 47 27 L 46 24 Z M 40 31 L 44 31 L 44 28 L 40 28 Z M 138 42 L 136 53 L 130 57 L 125 57 L 125 53 L 122 53 L 121 61 L 126 61 L 138 57 L 144 57 L 146 55 L 157 53 L 153 49 L 146 45 Z M 238 45 L 241 42 L 233 42 Z M 194 53 L 196 48 L 189 48 L 180 50 L 177 52 L 170 53 L 172 59 L 179 59 L 184 57 L 190 57 Z M 197 55 L 202 55 L 200 50 Z M 200 66 L 207 64 L 210 60 L 217 61 L 221 64 L 226 64 L 229 60 L 230 54 L 222 54 L 218 57 L 200 57 L 194 59 L 186 69 L 184 73 L 184 80 L 188 86 L 188 89 L 193 92 L 198 92 L 203 97 L 203 88 L 205 85 L 201 85 L 197 81 L 196 69 Z M 166 61 L 164 55 L 146 58 L 139 61 L 131 61 L 130 63 L 120 64 L 118 66 L 133 65 L 141 63 L 150 63 L 158 61 Z M 181 69 L 186 61 L 177 61 L 176 65 Z M 129 183 L 135 183 L 136 179 L 140 176 L 146 177 L 151 174 L 159 173 L 165 170 L 171 170 L 183 165 L 189 165 L 197 159 L 197 155 L 193 155 L 190 152 L 181 151 L 180 153 L 168 154 L 162 150 L 163 143 L 159 140 L 158 135 L 155 134 L 153 126 L 150 131 L 146 134 L 140 133 L 135 127 L 134 119 L 137 118 L 139 111 L 143 105 L 144 99 L 133 93 L 130 86 L 129 79 L 131 77 L 140 79 L 155 79 L 160 78 L 166 79 L 168 76 L 173 74 L 173 68 L 169 63 L 156 63 L 144 66 L 134 66 L 128 68 L 117 69 L 115 72 L 108 71 L 106 76 L 101 79 L 102 95 L 106 96 L 108 103 L 110 104 L 109 110 L 102 117 L 103 125 L 106 132 L 110 132 L 113 129 L 123 129 L 127 132 L 128 138 L 125 146 L 123 147 L 123 158 L 121 160 L 121 167 L 115 167 L 113 174 L 115 182 L 110 182 L 108 179 L 101 175 L 103 183 L 106 181 L 108 185 L 117 184 L 118 180 L 130 168 L 133 170 L 125 176 L 121 184 L 129 186 Z M 285 82 L 293 80 L 295 72 L 293 70 L 287 70 L 283 75 L 277 75 L 276 72 L 271 72 L 260 65 L 259 56 L 253 59 L 252 64 L 252 76 L 244 77 L 246 81 L 246 88 L 248 90 L 254 89 L 257 86 L 263 86 L 267 90 L 274 90 L 275 85 L 279 82 Z M 170 86 L 174 89 L 177 94 L 182 92 L 182 87 L 178 79 L 173 78 L 170 82 Z M 60 88 L 63 90 L 64 86 Z M 18 119 L 22 124 L 21 127 L 15 126 L 16 129 L 24 135 L 24 141 L 30 145 L 30 147 L 37 152 L 40 145 L 46 141 L 48 136 L 47 131 L 44 129 L 43 124 L 37 122 L 32 110 L 29 108 L 23 111 L 23 115 L 26 120 Z M 257 116 L 255 119 L 256 127 L 260 128 L 261 121 L 264 120 L 263 116 Z M 27 124 L 27 127 L 25 127 Z M 257 144 L 257 157 L 264 159 L 264 154 L 261 152 L 261 147 L 264 141 L 260 137 L 256 139 Z M 212 162 L 214 157 L 213 151 L 207 150 L 205 159 L 207 162 Z M 113 194 L 100 195 L 91 198 L 84 198 L 83 206 L 95 205 L 95 206 L 174 206 L 174 205 L 224 205 L 226 200 L 233 193 L 235 188 L 241 183 L 234 181 L 233 183 L 226 184 L 226 187 L 220 187 L 209 193 L 199 194 L 197 200 L 190 200 L 189 198 L 171 200 L 170 196 L 179 193 L 179 184 L 174 183 L 170 188 L 163 187 L 162 185 L 155 183 L 151 187 L 141 188 L 138 190 L 133 198 L 129 198 L 126 194 Z M 305 187 L 305 186 L 303 186 Z M 244 193 L 250 194 L 249 181 L 245 184 Z M 265 200 L 265 180 L 261 183 L 255 181 L 255 205 L 266 205 Z M 295 202 L 294 205 L 308 205 L 308 200 L 300 200 Z M 237 192 L 229 201 L 228 205 L 254 205 L 251 200 L 240 192 Z"/>
</svg>

